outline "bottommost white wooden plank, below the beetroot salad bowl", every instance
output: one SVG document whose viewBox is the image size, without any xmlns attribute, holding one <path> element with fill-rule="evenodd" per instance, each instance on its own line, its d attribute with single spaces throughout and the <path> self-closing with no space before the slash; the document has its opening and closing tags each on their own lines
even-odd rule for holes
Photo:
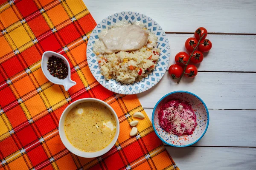
<svg viewBox="0 0 256 170">
<path fill-rule="evenodd" d="M 180 170 L 255 170 L 256 148 L 166 147 Z"/>
</svg>

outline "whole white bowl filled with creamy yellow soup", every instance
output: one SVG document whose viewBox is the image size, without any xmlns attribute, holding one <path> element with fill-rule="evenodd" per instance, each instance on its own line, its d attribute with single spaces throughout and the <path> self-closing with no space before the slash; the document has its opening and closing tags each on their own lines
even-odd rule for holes
<svg viewBox="0 0 256 170">
<path fill-rule="evenodd" d="M 63 111 L 59 134 L 70 152 L 94 158 L 107 153 L 116 143 L 119 120 L 106 102 L 94 98 L 79 99 Z"/>
</svg>

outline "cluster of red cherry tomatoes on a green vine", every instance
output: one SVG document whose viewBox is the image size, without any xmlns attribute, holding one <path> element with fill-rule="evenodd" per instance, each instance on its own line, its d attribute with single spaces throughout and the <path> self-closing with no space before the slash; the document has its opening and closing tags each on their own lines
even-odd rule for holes
<svg viewBox="0 0 256 170">
<path fill-rule="evenodd" d="M 190 37 L 186 40 L 185 47 L 190 54 L 184 51 L 176 54 L 176 64 L 171 65 L 168 71 L 173 79 L 179 79 L 180 81 L 183 75 L 189 78 L 197 75 L 197 67 L 190 64 L 190 62 L 194 64 L 201 63 L 204 59 L 203 53 L 210 51 L 212 48 L 212 42 L 206 39 L 207 34 L 207 30 L 204 27 L 200 27 L 195 31 L 195 38 Z"/>
</svg>

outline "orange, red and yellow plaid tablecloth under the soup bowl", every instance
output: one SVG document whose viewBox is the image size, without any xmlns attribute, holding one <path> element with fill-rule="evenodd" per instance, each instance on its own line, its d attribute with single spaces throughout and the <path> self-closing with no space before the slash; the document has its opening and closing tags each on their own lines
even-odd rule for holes
<svg viewBox="0 0 256 170">
<path fill-rule="evenodd" d="M 145 114 L 137 97 L 113 94 L 90 73 L 86 45 L 95 26 L 81 0 L 0 0 L 0 170 L 178 170 L 147 116 L 129 136 L 133 113 Z M 68 92 L 41 71 L 48 50 L 70 62 L 77 85 Z M 92 159 L 70 153 L 58 134 L 62 111 L 85 97 L 110 104 L 120 122 L 115 146 Z"/>
</svg>

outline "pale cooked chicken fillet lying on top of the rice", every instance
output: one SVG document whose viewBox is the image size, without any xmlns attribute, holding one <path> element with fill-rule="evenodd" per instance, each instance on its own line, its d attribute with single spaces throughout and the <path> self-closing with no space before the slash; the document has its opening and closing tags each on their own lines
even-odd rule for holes
<svg viewBox="0 0 256 170">
<path fill-rule="evenodd" d="M 148 30 L 131 25 L 122 28 L 111 28 L 101 32 L 99 39 L 106 46 L 108 53 L 132 51 L 142 48 L 148 42 Z"/>
</svg>

